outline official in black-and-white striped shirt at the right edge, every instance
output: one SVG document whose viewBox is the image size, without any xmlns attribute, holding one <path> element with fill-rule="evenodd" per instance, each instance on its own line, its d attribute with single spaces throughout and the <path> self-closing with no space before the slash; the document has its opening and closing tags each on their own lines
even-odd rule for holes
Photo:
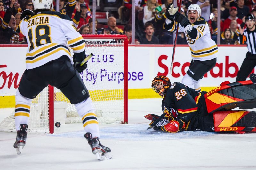
<svg viewBox="0 0 256 170">
<path fill-rule="evenodd" d="M 256 25 L 255 18 L 252 14 L 245 17 L 246 28 L 240 30 L 240 44 L 246 42 L 248 52 L 237 73 L 236 81 L 244 81 L 256 66 Z"/>
</svg>

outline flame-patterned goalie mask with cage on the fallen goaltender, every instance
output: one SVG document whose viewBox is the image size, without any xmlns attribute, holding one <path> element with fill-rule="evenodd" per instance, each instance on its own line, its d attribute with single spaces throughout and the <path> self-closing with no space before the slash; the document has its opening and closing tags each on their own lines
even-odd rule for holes
<svg viewBox="0 0 256 170">
<path fill-rule="evenodd" d="M 164 97 L 170 85 L 171 85 L 170 79 L 166 76 L 161 75 L 161 76 L 156 76 L 153 79 L 151 87 L 161 97 Z"/>
</svg>

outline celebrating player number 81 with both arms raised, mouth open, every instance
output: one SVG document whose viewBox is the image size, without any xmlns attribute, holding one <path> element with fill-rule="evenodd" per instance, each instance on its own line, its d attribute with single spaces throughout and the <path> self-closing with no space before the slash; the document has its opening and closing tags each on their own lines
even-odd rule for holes
<svg viewBox="0 0 256 170">
<path fill-rule="evenodd" d="M 184 32 L 191 51 L 192 61 L 187 74 L 182 79 L 182 84 L 200 91 L 199 81 L 204 74 L 210 71 L 216 64 L 218 47 L 211 39 L 209 26 L 200 16 L 201 9 L 197 4 L 191 4 L 187 10 L 187 17 L 178 12 L 179 7 L 170 4 L 166 12 L 165 29 Z"/>
</svg>

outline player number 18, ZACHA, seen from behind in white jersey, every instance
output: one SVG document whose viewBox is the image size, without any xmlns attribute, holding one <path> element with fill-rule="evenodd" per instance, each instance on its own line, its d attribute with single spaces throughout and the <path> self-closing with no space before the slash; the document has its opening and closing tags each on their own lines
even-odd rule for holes
<svg viewBox="0 0 256 170">
<path fill-rule="evenodd" d="M 84 137 L 99 160 L 110 159 L 111 150 L 99 141 L 99 126 L 92 100 L 78 72 L 85 58 L 85 42 L 72 25 L 72 20 L 59 12 L 52 12 L 52 0 L 33 0 L 34 14 L 20 21 L 20 32 L 28 40 L 26 70 L 16 92 L 15 124 L 17 153 L 26 144 L 30 105 L 48 84 L 60 89 L 75 105 L 82 117 Z M 74 52 L 74 62 L 68 49 Z M 73 67 L 74 65 L 74 67 Z"/>
</svg>

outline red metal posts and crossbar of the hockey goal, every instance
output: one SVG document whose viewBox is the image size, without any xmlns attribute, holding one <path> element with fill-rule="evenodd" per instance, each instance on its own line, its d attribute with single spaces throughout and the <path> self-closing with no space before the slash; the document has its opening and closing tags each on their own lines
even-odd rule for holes
<svg viewBox="0 0 256 170">
<path fill-rule="evenodd" d="M 124 39 L 124 124 L 128 124 L 128 38 L 116 34 L 82 34 L 84 39 Z M 86 50 L 86 49 L 85 49 Z M 49 85 L 49 133 L 54 133 L 54 88 Z"/>
</svg>

